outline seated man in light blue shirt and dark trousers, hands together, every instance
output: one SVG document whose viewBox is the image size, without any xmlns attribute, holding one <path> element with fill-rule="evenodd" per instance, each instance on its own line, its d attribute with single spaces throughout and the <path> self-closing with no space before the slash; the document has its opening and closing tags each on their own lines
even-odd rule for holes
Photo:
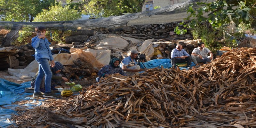
<svg viewBox="0 0 256 128">
<path fill-rule="evenodd" d="M 175 49 L 172 50 L 171 53 L 171 64 L 174 67 L 176 63 L 184 63 L 187 61 L 187 67 L 189 67 L 191 63 L 191 57 L 188 52 L 182 49 L 182 45 L 178 44 Z"/>
</svg>

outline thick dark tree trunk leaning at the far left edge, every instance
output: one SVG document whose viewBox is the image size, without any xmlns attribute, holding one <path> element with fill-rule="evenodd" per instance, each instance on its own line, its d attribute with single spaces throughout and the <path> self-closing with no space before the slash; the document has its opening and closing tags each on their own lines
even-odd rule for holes
<svg viewBox="0 0 256 128">
<path fill-rule="evenodd" d="M 21 26 L 13 25 L 11 31 L 4 36 L 2 41 L 3 46 L 10 46 L 13 41 L 19 37 L 19 30 Z"/>
</svg>

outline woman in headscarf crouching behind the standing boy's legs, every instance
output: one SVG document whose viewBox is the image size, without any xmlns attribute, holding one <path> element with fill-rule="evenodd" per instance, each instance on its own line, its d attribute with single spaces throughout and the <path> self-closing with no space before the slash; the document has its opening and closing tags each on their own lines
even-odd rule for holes
<svg viewBox="0 0 256 128">
<path fill-rule="evenodd" d="M 61 80 L 63 80 L 64 82 L 67 82 L 68 79 L 66 77 L 62 77 L 62 75 L 60 74 L 60 70 L 64 69 L 63 65 L 59 62 L 59 61 L 55 61 L 55 66 L 51 67 L 51 71 L 52 71 L 52 81 L 51 81 L 51 90 L 57 90 L 55 88 L 55 86 L 61 82 Z M 36 75 L 37 76 L 37 75 Z M 31 87 L 34 88 L 35 87 L 35 81 L 36 81 L 36 76 L 31 80 Z M 44 76 L 45 77 L 45 76 Z M 45 92 L 45 88 L 44 88 L 44 78 L 41 81 L 40 84 L 40 92 Z"/>
</svg>

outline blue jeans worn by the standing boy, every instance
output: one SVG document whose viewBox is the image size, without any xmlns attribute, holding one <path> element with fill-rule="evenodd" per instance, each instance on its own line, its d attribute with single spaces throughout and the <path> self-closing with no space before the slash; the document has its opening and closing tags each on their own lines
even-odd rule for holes
<svg viewBox="0 0 256 128">
<path fill-rule="evenodd" d="M 51 80 L 52 80 L 52 71 L 50 69 L 49 60 L 41 58 L 37 60 L 38 66 L 38 75 L 35 82 L 35 92 L 40 92 L 41 81 L 44 78 L 45 92 L 51 92 Z"/>
</svg>

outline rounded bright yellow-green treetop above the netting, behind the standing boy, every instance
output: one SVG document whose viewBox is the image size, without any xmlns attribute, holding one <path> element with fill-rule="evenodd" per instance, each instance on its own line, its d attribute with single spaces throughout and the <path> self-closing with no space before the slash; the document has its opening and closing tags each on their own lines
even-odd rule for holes
<svg viewBox="0 0 256 128">
<path fill-rule="evenodd" d="M 47 22 L 47 21 L 67 21 L 77 20 L 81 18 L 81 13 L 74 9 L 69 9 L 69 6 L 62 7 L 59 5 L 50 6 L 49 10 L 43 10 L 43 12 L 36 15 L 35 22 Z"/>
</svg>

